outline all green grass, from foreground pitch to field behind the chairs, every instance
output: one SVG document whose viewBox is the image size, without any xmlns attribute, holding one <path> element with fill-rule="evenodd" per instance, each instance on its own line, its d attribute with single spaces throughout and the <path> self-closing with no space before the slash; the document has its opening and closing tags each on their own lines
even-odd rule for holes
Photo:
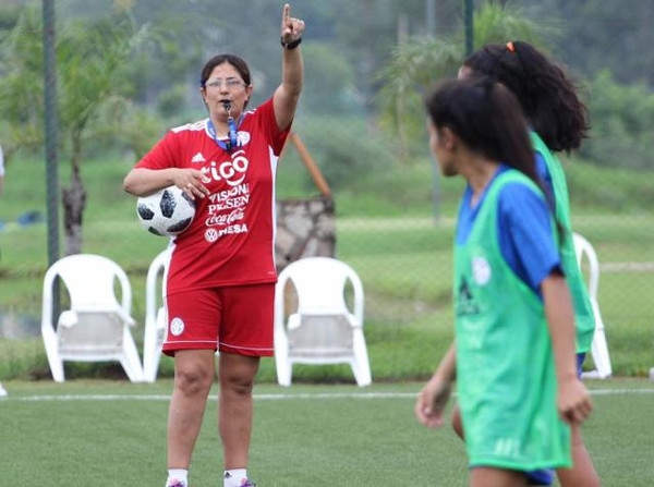
<svg viewBox="0 0 654 487">
<path fill-rule="evenodd" d="M 128 271 L 142 343 L 145 273 L 166 241 L 138 227 L 134 199 L 121 191 L 131 163 L 114 158 L 84 166 L 84 251 Z M 9 390 L 0 399 L 2 484 L 162 485 L 170 358 L 162 357 L 155 385 L 128 382 L 118 364 L 68 362 L 69 381 L 50 380 L 38 336 L 46 228 L 15 222 L 25 211 L 45 212 L 44 174 L 43 162 L 12 161 L 0 202 L 0 220 L 8 222 L 0 231 L 0 331 L 11 337 L 0 338 L 0 381 Z M 279 197 L 312 192 L 296 161 L 280 174 Z M 347 366 L 299 365 L 293 387 L 283 389 L 275 386 L 274 361 L 264 360 L 251 464 L 258 485 L 467 485 L 463 445 L 449 427 L 427 430 L 412 413 L 422 386 L 412 380 L 431 374 L 452 339 L 450 245 L 461 184 L 439 181 L 436 219 L 432 175 L 427 163 L 416 165 L 336 192 L 337 255 L 364 283 L 374 385 L 353 386 Z M 63 166 L 61 179 L 65 185 Z M 654 271 L 647 267 L 654 217 L 644 209 L 654 199 L 654 179 L 578 165 L 570 181 L 576 229 L 605 265 L 600 303 L 615 374 L 642 377 L 654 366 Z M 654 485 L 654 385 L 643 378 L 589 385 L 596 411 L 584 437 L 604 485 Z M 215 405 L 213 399 L 194 455 L 194 487 L 220 485 Z"/>
</svg>

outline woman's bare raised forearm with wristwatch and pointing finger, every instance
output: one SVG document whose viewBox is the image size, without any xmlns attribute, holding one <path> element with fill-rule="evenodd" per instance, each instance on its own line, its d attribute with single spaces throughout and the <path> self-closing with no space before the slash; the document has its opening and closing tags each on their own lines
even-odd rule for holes
<svg viewBox="0 0 654 487">
<path fill-rule="evenodd" d="M 277 127 L 284 130 L 295 115 L 295 108 L 302 92 L 304 69 L 300 42 L 304 33 L 304 22 L 291 16 L 291 5 L 283 5 L 281 14 L 281 84 L 275 90 L 272 104 Z"/>
</svg>

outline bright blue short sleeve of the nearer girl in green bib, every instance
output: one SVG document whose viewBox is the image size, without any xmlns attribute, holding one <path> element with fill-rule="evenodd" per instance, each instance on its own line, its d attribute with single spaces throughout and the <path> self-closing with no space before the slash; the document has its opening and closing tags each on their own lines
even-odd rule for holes
<svg viewBox="0 0 654 487">
<path fill-rule="evenodd" d="M 561 263 L 545 199 L 531 187 L 509 183 L 499 195 L 497 226 L 501 254 L 536 294 Z"/>
</svg>

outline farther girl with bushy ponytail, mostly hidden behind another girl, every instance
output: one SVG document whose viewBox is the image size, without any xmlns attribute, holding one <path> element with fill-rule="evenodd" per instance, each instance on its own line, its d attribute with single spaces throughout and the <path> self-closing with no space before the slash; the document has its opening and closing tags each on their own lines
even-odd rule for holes
<svg viewBox="0 0 654 487">
<path fill-rule="evenodd" d="M 566 72 L 533 46 L 523 41 L 492 44 L 465 59 L 459 77 L 488 76 L 505 85 L 518 98 L 530 125 L 536 155 L 536 172 L 545 182 L 555 215 L 561 226 L 561 267 L 572 295 L 577 329 L 578 374 L 591 349 L 595 319 L 583 276 L 577 265 L 570 223 L 568 185 L 556 153 L 579 149 L 588 137 L 589 113 Z M 460 436 L 457 410 L 452 425 Z M 572 467 L 557 472 L 562 487 L 598 487 L 600 478 L 584 446 L 581 429 L 572 426 Z"/>
</svg>

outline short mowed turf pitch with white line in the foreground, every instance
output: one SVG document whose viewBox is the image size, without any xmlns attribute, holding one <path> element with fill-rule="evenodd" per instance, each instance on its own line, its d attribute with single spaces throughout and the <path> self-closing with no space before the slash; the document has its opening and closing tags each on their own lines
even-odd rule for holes
<svg viewBox="0 0 654 487">
<path fill-rule="evenodd" d="M 650 487 L 654 383 L 588 385 L 595 412 L 583 434 L 603 485 Z M 0 437 L 8 485 L 164 485 L 170 380 L 9 381 L 4 387 Z M 253 478 L 264 487 L 465 486 L 463 443 L 449 426 L 428 430 L 413 417 L 421 387 L 257 386 Z M 220 485 L 215 412 L 214 391 L 193 456 L 193 487 Z"/>
</svg>

